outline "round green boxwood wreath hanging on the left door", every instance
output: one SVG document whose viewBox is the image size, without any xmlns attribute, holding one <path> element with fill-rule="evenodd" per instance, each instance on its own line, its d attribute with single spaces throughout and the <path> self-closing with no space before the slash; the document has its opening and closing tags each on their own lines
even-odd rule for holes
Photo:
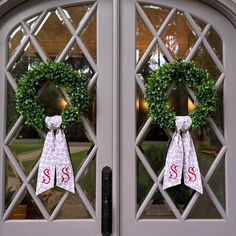
<svg viewBox="0 0 236 236">
<path fill-rule="evenodd" d="M 38 90 L 47 81 L 63 87 L 69 96 L 71 106 L 61 114 L 62 128 L 69 128 L 88 110 L 90 96 L 88 79 L 65 63 L 39 63 L 23 75 L 16 91 L 16 110 L 26 117 L 26 124 L 44 129 L 44 109 L 37 104 L 36 98 Z"/>
</svg>

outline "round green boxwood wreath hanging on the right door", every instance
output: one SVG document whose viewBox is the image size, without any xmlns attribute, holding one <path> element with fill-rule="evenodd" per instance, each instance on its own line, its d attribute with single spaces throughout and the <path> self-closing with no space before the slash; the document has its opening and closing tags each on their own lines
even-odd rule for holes
<svg viewBox="0 0 236 236">
<path fill-rule="evenodd" d="M 175 128 L 175 112 L 167 102 L 167 90 L 173 82 L 182 82 L 196 93 L 198 105 L 189 116 L 192 129 L 204 126 L 215 111 L 216 88 L 207 70 L 197 67 L 193 62 L 173 61 L 155 70 L 145 84 L 145 98 L 149 114 L 160 128 Z"/>
</svg>

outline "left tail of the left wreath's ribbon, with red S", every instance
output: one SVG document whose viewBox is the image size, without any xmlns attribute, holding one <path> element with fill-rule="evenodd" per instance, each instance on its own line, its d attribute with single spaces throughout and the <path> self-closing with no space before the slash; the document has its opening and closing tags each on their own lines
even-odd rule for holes
<svg viewBox="0 0 236 236">
<path fill-rule="evenodd" d="M 42 155 L 39 161 L 36 195 L 54 187 L 55 158 L 54 158 L 54 135 L 48 132 Z"/>
</svg>

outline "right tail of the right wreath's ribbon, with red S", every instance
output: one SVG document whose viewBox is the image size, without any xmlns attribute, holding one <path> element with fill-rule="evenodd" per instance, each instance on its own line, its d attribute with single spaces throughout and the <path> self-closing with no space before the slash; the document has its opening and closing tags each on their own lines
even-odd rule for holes
<svg viewBox="0 0 236 236">
<path fill-rule="evenodd" d="M 199 193 L 203 193 L 200 168 L 197 160 L 196 150 L 189 132 L 183 135 L 185 148 L 184 157 L 184 184 Z"/>
</svg>

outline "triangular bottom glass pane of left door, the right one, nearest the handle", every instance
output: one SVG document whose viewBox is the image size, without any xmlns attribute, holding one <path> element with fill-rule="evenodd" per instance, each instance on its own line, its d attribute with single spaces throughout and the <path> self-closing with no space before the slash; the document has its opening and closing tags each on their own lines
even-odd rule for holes
<svg viewBox="0 0 236 236">
<path fill-rule="evenodd" d="M 62 206 L 57 219 L 89 219 L 92 218 L 84 206 L 78 193 L 70 193 Z"/>
</svg>

